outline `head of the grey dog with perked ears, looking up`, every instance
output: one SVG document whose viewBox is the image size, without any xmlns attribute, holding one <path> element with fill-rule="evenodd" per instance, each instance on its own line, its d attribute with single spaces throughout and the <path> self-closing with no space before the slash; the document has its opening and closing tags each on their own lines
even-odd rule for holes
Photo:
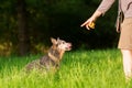
<svg viewBox="0 0 132 88">
<path fill-rule="evenodd" d="M 62 51 L 70 51 L 72 50 L 72 43 L 67 43 L 64 40 L 59 40 L 59 38 L 55 40 L 55 38 L 51 37 L 51 41 L 53 43 L 53 46 L 55 46 L 58 50 L 62 50 Z"/>
</svg>

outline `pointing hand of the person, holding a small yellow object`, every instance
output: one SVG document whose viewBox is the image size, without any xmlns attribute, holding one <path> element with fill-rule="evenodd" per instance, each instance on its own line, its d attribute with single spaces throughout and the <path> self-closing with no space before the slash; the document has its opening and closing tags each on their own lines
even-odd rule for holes
<svg viewBox="0 0 132 88">
<path fill-rule="evenodd" d="M 86 22 L 84 22 L 80 26 L 86 26 L 87 30 L 95 29 L 95 18 L 88 19 Z"/>
</svg>

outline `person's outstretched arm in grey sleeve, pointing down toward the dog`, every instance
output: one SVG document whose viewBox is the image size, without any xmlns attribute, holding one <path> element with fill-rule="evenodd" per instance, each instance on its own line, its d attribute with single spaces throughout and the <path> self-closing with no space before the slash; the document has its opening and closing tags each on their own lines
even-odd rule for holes
<svg viewBox="0 0 132 88">
<path fill-rule="evenodd" d="M 92 22 L 95 23 L 96 20 L 100 16 L 103 15 L 110 7 L 113 4 L 114 0 L 102 0 L 96 12 L 89 18 L 86 22 L 84 22 L 80 26 L 86 26 L 86 29 L 89 29 L 89 24 Z"/>
</svg>

